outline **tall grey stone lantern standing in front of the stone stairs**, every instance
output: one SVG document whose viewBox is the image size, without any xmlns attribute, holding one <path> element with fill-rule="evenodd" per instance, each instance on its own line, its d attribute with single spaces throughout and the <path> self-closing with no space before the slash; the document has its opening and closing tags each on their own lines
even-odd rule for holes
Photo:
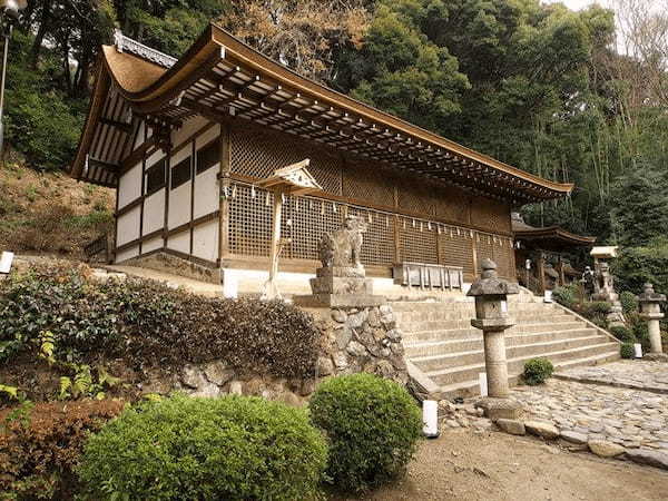
<svg viewBox="0 0 668 501">
<path fill-rule="evenodd" d="M 484 259 L 481 265 L 482 274 L 468 293 L 469 296 L 475 297 L 475 318 L 471 320 L 471 325 L 480 328 L 484 338 L 489 397 L 479 406 L 483 407 L 488 418 L 492 420 L 515 419 L 521 410 L 517 402 L 508 397 L 508 363 L 503 332 L 514 325 L 514 321 L 508 314 L 508 295 L 518 294 L 520 287 L 499 278 L 493 261 Z"/>
</svg>

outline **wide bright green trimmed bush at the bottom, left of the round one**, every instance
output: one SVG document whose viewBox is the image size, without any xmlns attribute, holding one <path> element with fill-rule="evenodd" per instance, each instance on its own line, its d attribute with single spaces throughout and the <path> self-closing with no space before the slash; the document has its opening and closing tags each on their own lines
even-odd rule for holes
<svg viewBox="0 0 668 501">
<path fill-rule="evenodd" d="M 258 397 L 176 395 L 125 411 L 86 444 L 92 499 L 313 499 L 327 464 L 306 411 Z"/>
</svg>

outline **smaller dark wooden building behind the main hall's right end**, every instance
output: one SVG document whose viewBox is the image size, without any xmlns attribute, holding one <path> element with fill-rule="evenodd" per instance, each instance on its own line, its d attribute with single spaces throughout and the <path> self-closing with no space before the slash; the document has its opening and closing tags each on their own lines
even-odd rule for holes
<svg viewBox="0 0 668 501">
<path fill-rule="evenodd" d="M 530 226 L 519 213 L 512 213 L 511 218 L 520 284 L 543 294 L 581 278 L 582 272 L 574 269 L 564 254 L 593 246 L 596 237 L 576 235 L 559 226 Z"/>
</svg>

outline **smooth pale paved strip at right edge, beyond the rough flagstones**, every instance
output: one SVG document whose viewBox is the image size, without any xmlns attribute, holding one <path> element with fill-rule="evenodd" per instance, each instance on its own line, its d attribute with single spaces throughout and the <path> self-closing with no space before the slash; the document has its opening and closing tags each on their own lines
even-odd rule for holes
<svg viewBox="0 0 668 501">
<path fill-rule="evenodd" d="M 668 364 L 665 362 L 620 361 L 593 367 L 569 369 L 556 373 L 554 376 L 581 383 L 668 394 Z"/>
</svg>

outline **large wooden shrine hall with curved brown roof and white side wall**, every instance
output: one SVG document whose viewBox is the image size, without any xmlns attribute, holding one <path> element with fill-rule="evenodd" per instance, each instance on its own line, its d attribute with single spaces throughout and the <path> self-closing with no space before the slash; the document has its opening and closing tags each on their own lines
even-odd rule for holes
<svg viewBox="0 0 668 501">
<path fill-rule="evenodd" d="M 514 279 L 511 209 L 572 189 L 301 77 L 215 24 L 178 60 L 115 38 L 71 176 L 117 189 L 116 263 L 266 271 L 273 194 L 261 181 L 310 159 L 322 190 L 284 203 L 282 273 L 313 273 L 321 236 L 354 214 L 369 276 L 413 263 L 471 282 L 491 257 Z"/>
</svg>

